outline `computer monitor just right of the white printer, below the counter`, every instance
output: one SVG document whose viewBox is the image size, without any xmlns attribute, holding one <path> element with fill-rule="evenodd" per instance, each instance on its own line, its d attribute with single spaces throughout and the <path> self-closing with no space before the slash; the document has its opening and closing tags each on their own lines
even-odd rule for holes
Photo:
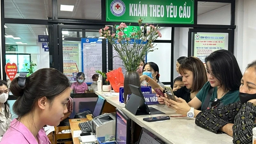
<svg viewBox="0 0 256 144">
<path fill-rule="evenodd" d="M 116 108 L 116 143 L 131 144 L 131 119 Z"/>
</svg>

